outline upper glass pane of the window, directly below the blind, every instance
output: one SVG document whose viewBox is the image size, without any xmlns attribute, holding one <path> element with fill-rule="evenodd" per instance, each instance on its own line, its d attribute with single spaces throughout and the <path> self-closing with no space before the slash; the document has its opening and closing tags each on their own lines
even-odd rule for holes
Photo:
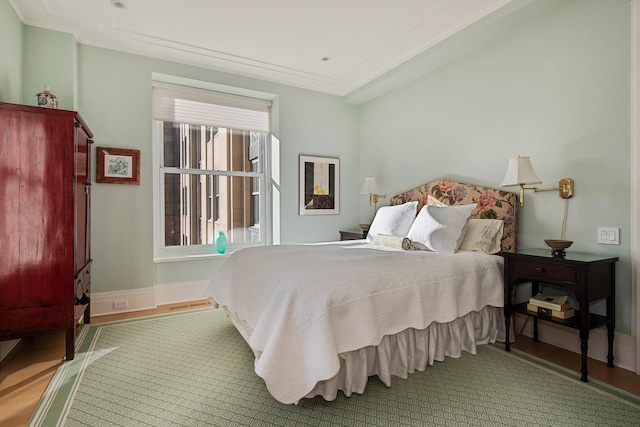
<svg viewBox="0 0 640 427">
<path fill-rule="evenodd" d="M 165 167 L 261 172 L 259 147 L 266 133 L 163 123 Z"/>
</svg>

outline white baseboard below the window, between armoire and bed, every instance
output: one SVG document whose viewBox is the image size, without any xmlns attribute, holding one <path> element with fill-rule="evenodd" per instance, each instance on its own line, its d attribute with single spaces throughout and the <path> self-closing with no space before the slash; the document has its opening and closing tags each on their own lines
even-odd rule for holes
<svg viewBox="0 0 640 427">
<path fill-rule="evenodd" d="M 202 299 L 207 280 L 168 283 L 91 295 L 91 317 L 154 309 L 159 305 Z"/>
</svg>

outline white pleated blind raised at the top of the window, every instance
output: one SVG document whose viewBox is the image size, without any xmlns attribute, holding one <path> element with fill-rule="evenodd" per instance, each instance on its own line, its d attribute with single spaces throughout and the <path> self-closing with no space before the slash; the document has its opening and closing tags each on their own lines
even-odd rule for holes
<svg viewBox="0 0 640 427">
<path fill-rule="evenodd" d="M 153 119 L 269 132 L 271 102 L 153 82 Z"/>
</svg>

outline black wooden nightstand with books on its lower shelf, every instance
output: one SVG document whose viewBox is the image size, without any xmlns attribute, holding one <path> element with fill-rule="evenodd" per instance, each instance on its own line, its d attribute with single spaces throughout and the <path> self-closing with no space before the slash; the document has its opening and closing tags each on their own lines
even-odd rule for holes
<svg viewBox="0 0 640 427">
<path fill-rule="evenodd" d="M 582 381 L 587 381 L 587 350 L 589 331 L 606 325 L 608 338 L 607 366 L 613 367 L 613 335 L 615 327 L 615 263 L 617 257 L 568 252 L 564 258 L 553 257 L 550 249 L 527 249 L 516 253 L 504 252 L 504 320 L 505 350 L 510 351 L 509 330 L 511 313 L 533 317 L 533 340 L 538 341 L 538 319 L 568 326 L 580 331 Z M 527 303 L 512 304 L 513 289 L 531 282 L 531 295 L 536 295 L 540 283 L 561 289 L 576 297 L 575 316 L 557 319 L 527 310 Z M 589 313 L 589 304 L 606 300 L 606 315 Z"/>
</svg>

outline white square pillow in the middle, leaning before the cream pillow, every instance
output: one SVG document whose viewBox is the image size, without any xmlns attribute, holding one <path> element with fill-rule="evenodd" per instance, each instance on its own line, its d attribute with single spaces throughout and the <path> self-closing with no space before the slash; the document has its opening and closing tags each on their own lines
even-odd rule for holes
<svg viewBox="0 0 640 427">
<path fill-rule="evenodd" d="M 458 250 L 475 204 L 424 206 L 407 237 L 416 245 L 432 251 L 452 254 Z"/>
</svg>

